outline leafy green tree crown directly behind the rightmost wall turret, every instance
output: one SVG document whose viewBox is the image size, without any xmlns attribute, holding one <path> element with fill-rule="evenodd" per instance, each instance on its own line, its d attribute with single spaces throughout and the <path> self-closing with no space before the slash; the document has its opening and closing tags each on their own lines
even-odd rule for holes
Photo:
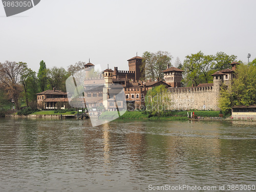
<svg viewBox="0 0 256 192">
<path fill-rule="evenodd" d="M 223 70 L 223 69 L 229 69 L 231 68 L 230 63 L 235 61 L 237 59 L 236 55 L 227 55 L 224 52 L 217 52 L 214 56 L 214 60 L 216 61 L 215 69 L 217 71 Z"/>
</svg>

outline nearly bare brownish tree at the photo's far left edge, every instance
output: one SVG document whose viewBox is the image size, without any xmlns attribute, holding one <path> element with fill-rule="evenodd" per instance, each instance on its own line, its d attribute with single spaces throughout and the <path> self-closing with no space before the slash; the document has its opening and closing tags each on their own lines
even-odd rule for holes
<svg viewBox="0 0 256 192">
<path fill-rule="evenodd" d="M 4 84 L 9 98 L 13 100 L 17 110 L 19 110 L 18 101 L 22 92 L 22 87 L 19 84 L 22 69 L 22 62 L 5 61 L 4 63 L 0 63 L 0 81 Z"/>
</svg>

